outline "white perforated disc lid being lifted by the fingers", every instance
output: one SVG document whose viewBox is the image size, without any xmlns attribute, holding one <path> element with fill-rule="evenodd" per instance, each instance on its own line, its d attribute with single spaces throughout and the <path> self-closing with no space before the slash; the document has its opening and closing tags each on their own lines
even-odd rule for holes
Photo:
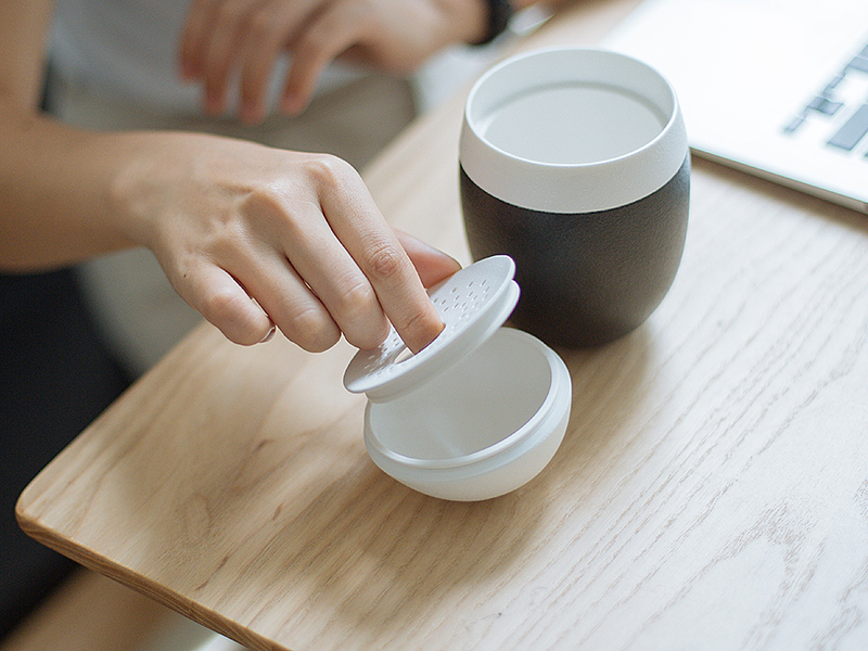
<svg viewBox="0 0 868 651">
<path fill-rule="evenodd" d="M 498 255 L 461 269 L 429 291 L 445 328 L 416 355 L 395 330 L 379 347 L 359 350 L 344 386 L 372 403 L 406 395 L 457 363 L 492 336 L 519 302 L 515 263 Z"/>
</svg>

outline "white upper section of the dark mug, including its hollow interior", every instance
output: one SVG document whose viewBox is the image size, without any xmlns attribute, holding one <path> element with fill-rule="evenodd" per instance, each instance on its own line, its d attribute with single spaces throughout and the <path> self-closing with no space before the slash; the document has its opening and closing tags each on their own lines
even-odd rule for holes
<svg viewBox="0 0 868 651">
<path fill-rule="evenodd" d="M 468 177 L 511 205 L 609 210 L 665 186 L 688 155 L 675 90 L 647 63 L 608 50 L 534 50 L 473 85 L 459 156 Z"/>
</svg>

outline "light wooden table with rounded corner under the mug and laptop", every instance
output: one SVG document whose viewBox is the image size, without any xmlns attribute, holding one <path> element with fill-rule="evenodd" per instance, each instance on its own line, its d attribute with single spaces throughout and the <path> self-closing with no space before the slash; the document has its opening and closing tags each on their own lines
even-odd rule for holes
<svg viewBox="0 0 868 651">
<path fill-rule="evenodd" d="M 593 43 L 636 3 L 587 0 L 521 47 Z M 462 101 L 366 179 L 468 261 Z M 381 473 L 348 346 L 203 326 L 34 481 L 22 525 L 253 649 L 868 648 L 868 218 L 700 159 L 692 182 L 672 291 L 563 352 L 570 426 L 516 493 Z"/>
</svg>

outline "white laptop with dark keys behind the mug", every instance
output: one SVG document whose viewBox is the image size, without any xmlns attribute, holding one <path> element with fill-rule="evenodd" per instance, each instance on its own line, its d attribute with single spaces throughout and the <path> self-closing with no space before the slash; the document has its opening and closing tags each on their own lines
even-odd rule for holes
<svg viewBox="0 0 868 651">
<path fill-rule="evenodd" d="M 868 0 L 644 0 L 601 47 L 668 78 L 695 154 L 868 213 Z"/>
</svg>

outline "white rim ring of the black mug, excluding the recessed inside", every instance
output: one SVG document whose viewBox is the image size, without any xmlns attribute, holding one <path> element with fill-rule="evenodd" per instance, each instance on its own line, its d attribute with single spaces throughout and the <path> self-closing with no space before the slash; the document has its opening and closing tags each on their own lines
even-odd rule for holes
<svg viewBox="0 0 868 651">
<path fill-rule="evenodd" d="M 560 65 L 553 65 L 556 59 Z M 580 63 L 580 74 L 575 65 Z M 497 91 L 507 68 L 524 68 L 524 90 L 563 82 L 599 84 L 638 94 L 668 119 L 641 148 L 614 158 L 562 164 L 529 161 L 492 144 L 477 129 L 473 107 L 482 93 Z M 512 87 L 506 97 L 521 91 Z M 473 85 L 464 105 L 460 162 L 480 188 L 509 204 L 548 213 L 590 213 L 639 201 L 666 184 L 688 153 L 681 110 L 672 85 L 648 64 L 610 50 L 549 48 L 507 59 Z"/>
</svg>

